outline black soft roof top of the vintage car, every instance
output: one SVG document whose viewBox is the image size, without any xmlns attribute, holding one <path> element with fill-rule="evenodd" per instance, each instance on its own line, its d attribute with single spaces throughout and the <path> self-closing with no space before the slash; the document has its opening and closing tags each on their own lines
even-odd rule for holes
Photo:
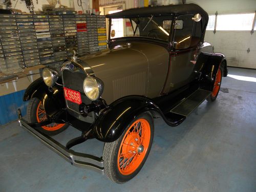
<svg viewBox="0 0 256 192">
<path fill-rule="evenodd" d="M 157 7 L 143 7 L 135 9 L 127 9 L 124 11 L 112 13 L 106 15 L 107 18 L 131 18 L 131 17 L 143 17 L 151 15 L 170 15 L 175 14 L 197 14 L 200 13 L 205 21 L 208 22 L 208 14 L 196 4 L 179 4 L 179 5 L 167 5 Z"/>
</svg>

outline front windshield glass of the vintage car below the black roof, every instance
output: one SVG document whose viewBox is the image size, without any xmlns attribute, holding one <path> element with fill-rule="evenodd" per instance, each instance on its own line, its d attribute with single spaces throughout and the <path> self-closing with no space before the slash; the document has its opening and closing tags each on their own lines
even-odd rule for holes
<svg viewBox="0 0 256 192">
<path fill-rule="evenodd" d="M 171 24 L 171 16 L 112 19 L 110 38 L 136 36 L 168 41 Z"/>
</svg>

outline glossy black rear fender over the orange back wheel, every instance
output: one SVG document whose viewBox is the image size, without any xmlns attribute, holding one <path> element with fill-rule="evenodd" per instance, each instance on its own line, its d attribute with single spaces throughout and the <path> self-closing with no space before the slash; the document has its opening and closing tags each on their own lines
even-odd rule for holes
<svg viewBox="0 0 256 192">
<path fill-rule="evenodd" d="M 200 63 L 201 69 L 198 71 L 200 76 L 200 88 L 212 91 L 218 69 L 221 67 L 222 75 L 227 76 L 227 62 L 225 56 L 221 53 L 204 53 L 201 52 L 197 63 Z"/>
</svg>

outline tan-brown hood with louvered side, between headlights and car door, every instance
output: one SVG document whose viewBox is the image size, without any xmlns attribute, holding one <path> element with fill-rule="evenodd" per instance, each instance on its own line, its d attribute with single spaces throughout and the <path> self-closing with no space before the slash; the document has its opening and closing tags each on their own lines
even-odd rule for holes
<svg viewBox="0 0 256 192">
<path fill-rule="evenodd" d="M 102 98 L 111 103 L 127 95 L 158 97 L 168 72 L 169 53 L 145 42 L 120 44 L 114 49 L 83 56 L 96 77 L 104 82 Z"/>
</svg>

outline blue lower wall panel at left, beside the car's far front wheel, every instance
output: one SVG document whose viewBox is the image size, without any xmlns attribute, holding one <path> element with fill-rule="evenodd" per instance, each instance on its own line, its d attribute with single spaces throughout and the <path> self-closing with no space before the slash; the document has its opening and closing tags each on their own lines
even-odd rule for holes
<svg viewBox="0 0 256 192">
<path fill-rule="evenodd" d="M 0 97 L 0 125 L 16 120 L 18 108 L 26 115 L 28 102 L 23 101 L 24 93 L 22 90 Z"/>
</svg>

